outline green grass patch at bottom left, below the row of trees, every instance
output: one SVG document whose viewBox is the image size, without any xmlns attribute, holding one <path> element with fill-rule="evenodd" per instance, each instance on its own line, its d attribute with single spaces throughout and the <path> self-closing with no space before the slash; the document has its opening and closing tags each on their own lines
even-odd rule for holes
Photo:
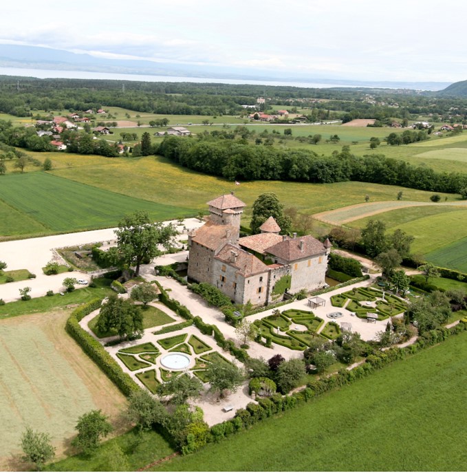
<svg viewBox="0 0 467 474">
<path fill-rule="evenodd" d="M 119 458 L 115 454 L 115 444 L 126 456 L 128 466 L 116 464 L 119 462 Z M 92 455 L 67 457 L 63 461 L 49 464 L 45 471 L 92 472 L 120 471 L 122 469 L 138 471 L 139 468 L 171 454 L 173 454 L 173 448 L 160 433 L 156 431 L 142 431 L 140 433 L 133 429 L 114 440 L 102 443 Z"/>
</svg>

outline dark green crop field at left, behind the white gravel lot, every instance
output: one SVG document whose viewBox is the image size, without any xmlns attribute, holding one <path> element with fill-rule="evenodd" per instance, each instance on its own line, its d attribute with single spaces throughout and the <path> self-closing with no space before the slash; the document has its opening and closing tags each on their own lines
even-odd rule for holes
<svg viewBox="0 0 467 474">
<path fill-rule="evenodd" d="M 99 177 L 102 179 L 102 176 Z M 118 189 L 118 187 L 114 188 Z M 146 211 L 153 219 L 173 219 L 193 215 L 193 208 L 157 204 L 122 194 L 87 186 L 48 173 L 13 174 L 2 177 L 0 214 L 7 219 L 0 222 L 0 235 L 31 234 L 34 229 L 65 232 L 90 228 L 113 227 L 125 213 Z M 182 201 L 180 201 L 182 202 Z M 13 212 L 12 211 L 13 208 Z M 5 223 L 21 212 L 16 228 Z M 43 230 L 43 228 L 41 230 Z"/>
</svg>

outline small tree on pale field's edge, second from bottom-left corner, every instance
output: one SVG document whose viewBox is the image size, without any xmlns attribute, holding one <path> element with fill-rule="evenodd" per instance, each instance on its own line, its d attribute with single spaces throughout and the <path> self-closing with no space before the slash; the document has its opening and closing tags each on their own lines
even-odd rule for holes
<svg viewBox="0 0 467 474">
<path fill-rule="evenodd" d="M 78 435 L 72 441 L 72 445 L 85 454 L 95 451 L 101 438 L 105 438 L 113 430 L 108 417 L 101 410 L 92 410 L 80 416 L 75 429 Z"/>
</svg>

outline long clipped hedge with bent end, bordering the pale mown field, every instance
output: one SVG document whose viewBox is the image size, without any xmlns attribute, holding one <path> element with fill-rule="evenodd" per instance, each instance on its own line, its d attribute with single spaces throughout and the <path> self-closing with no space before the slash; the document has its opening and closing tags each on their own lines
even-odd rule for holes
<svg viewBox="0 0 467 474">
<path fill-rule="evenodd" d="M 91 334 L 83 330 L 79 322 L 87 314 L 100 308 L 102 299 L 94 299 L 85 305 L 76 308 L 69 316 L 65 330 L 82 347 L 83 351 L 100 367 L 100 369 L 115 383 L 122 394 L 130 396 L 133 392 L 141 390 L 129 374 L 125 374 L 116 360 L 94 339 Z"/>
</svg>

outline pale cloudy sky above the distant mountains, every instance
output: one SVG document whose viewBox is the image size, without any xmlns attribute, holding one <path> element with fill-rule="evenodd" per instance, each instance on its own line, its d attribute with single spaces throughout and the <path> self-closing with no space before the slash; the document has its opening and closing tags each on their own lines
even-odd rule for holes
<svg viewBox="0 0 467 474">
<path fill-rule="evenodd" d="M 2 6 L 0 43 L 310 78 L 467 79 L 466 0 L 79 0 Z"/>
</svg>

